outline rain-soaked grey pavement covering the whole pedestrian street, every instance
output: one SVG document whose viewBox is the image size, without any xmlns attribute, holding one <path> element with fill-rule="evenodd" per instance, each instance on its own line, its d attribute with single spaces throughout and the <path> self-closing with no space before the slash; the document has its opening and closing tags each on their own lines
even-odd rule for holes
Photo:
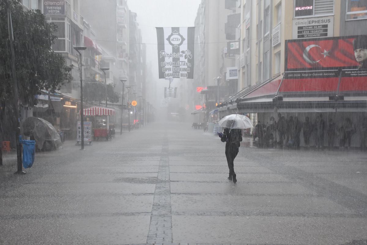
<svg viewBox="0 0 367 245">
<path fill-rule="evenodd" d="M 257 149 L 153 123 L 0 167 L 0 244 L 365 244 L 367 154 Z M 354 240 L 354 241 L 353 241 Z"/>
</svg>

